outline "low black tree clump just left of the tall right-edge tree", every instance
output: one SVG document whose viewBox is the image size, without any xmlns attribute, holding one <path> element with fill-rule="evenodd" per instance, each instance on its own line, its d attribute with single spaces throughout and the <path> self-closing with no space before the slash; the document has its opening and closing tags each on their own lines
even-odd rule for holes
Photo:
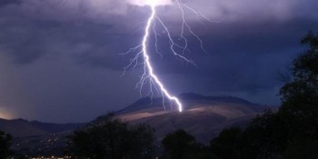
<svg viewBox="0 0 318 159">
<path fill-rule="evenodd" d="M 210 147 L 222 159 L 270 159 L 283 152 L 285 134 L 280 116 L 266 110 L 254 117 L 244 130 L 224 129 L 211 140 Z"/>
</svg>

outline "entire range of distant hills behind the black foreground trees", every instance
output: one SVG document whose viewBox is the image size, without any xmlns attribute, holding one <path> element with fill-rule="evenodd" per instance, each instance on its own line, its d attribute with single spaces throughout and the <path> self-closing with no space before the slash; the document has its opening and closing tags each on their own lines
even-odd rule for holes
<svg viewBox="0 0 318 159">
<path fill-rule="evenodd" d="M 157 144 L 165 134 L 184 129 L 197 141 L 206 143 L 225 127 L 245 127 L 256 114 L 275 106 L 253 104 L 233 96 L 204 96 L 180 94 L 184 112 L 172 109 L 162 98 L 142 98 L 115 112 L 116 116 L 130 124 L 150 124 L 156 130 Z M 103 117 L 98 119 L 103 120 Z M 94 121 L 96 122 L 96 121 Z M 97 121 L 98 122 L 98 121 Z M 63 154 L 66 136 L 84 124 L 50 124 L 24 119 L 0 119 L 0 130 L 13 134 L 13 149 L 22 154 Z"/>
</svg>

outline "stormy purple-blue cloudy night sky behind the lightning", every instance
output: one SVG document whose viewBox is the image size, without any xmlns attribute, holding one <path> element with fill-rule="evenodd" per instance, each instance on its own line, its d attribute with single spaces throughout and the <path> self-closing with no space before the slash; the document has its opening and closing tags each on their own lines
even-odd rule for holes
<svg viewBox="0 0 318 159">
<path fill-rule="evenodd" d="M 134 0 L 136 1 L 136 0 Z M 164 0 L 168 2 L 167 0 Z M 184 55 L 152 54 L 155 72 L 173 94 L 234 95 L 259 104 L 280 104 L 300 39 L 318 28 L 317 0 L 183 0 L 213 23 L 186 11 L 189 33 Z M 173 2 L 172 2 L 173 3 Z M 1 0 L 0 117 L 44 122 L 87 122 L 134 103 L 142 65 L 123 75 L 142 41 L 149 7 L 133 0 Z M 180 39 L 176 5 L 157 8 Z M 154 41 L 154 34 L 152 35 Z M 154 45 L 150 45 L 154 50 Z"/>
</svg>

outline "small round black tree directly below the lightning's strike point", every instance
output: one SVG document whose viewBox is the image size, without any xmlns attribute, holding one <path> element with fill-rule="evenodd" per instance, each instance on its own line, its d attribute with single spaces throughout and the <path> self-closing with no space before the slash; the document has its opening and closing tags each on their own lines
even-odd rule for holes
<svg viewBox="0 0 318 159">
<path fill-rule="evenodd" d="M 192 151 L 195 146 L 195 138 L 180 129 L 174 133 L 167 134 L 162 141 L 164 151 L 171 159 L 184 159 L 185 154 Z"/>
</svg>

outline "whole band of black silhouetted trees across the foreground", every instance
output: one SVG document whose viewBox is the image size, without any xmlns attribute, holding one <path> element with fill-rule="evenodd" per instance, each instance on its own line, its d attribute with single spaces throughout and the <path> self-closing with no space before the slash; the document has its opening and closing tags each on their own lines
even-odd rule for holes
<svg viewBox="0 0 318 159">
<path fill-rule="evenodd" d="M 107 114 L 69 136 L 65 154 L 90 159 L 316 159 L 318 158 L 318 35 L 302 39 L 306 50 L 293 61 L 282 105 L 265 111 L 245 129 L 227 128 L 209 144 L 184 130 L 154 146 L 154 129 L 129 125 Z M 11 136 L 0 132 L 0 158 L 11 154 Z"/>
</svg>

